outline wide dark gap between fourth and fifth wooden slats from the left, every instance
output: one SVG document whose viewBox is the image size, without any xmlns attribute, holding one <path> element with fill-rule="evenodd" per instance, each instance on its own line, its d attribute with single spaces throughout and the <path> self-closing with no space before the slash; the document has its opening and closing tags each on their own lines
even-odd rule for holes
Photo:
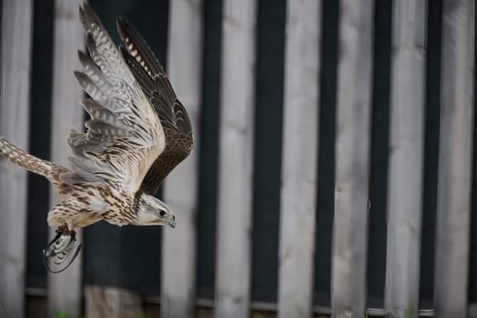
<svg viewBox="0 0 477 318">
<path fill-rule="evenodd" d="M 256 31 L 252 299 L 276 302 L 282 171 L 286 1 L 258 2 Z"/>
</svg>

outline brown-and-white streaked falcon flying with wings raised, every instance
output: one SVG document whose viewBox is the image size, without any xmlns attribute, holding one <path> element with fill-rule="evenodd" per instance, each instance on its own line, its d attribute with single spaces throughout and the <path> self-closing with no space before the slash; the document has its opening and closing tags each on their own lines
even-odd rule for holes
<svg viewBox="0 0 477 318">
<path fill-rule="evenodd" d="M 73 254 L 75 230 L 84 226 L 105 220 L 174 227 L 171 209 L 154 194 L 194 144 L 184 105 L 143 37 L 119 17 L 124 45 L 118 48 L 89 5 L 80 6 L 79 15 L 89 55 L 78 51 L 84 70 L 75 77 L 90 96 L 82 105 L 91 119 L 85 133 L 69 134 L 70 167 L 0 137 L 0 157 L 44 175 L 62 197 L 48 213 L 57 234 L 44 252 L 45 259 L 63 263 L 61 271 L 73 262 L 75 256 L 65 265 L 65 256 Z"/>
</svg>

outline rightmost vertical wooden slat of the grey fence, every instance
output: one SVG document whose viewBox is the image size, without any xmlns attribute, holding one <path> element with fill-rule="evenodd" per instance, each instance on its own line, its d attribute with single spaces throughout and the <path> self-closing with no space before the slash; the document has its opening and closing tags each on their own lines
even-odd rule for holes
<svg viewBox="0 0 477 318">
<path fill-rule="evenodd" d="M 465 317 L 472 186 L 474 0 L 442 4 L 435 317 Z"/>
</svg>

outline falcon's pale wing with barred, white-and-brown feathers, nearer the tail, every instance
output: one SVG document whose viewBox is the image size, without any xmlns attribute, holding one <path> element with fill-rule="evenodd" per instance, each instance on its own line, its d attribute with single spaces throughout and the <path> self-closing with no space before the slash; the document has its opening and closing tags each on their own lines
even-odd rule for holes
<svg viewBox="0 0 477 318">
<path fill-rule="evenodd" d="M 83 101 L 91 116 L 85 134 L 68 139 L 74 155 L 70 184 L 109 182 L 135 194 L 154 161 L 164 151 L 162 125 L 129 67 L 93 9 L 80 7 L 89 55 L 79 52 L 84 72 L 75 76 L 92 98 Z"/>
</svg>

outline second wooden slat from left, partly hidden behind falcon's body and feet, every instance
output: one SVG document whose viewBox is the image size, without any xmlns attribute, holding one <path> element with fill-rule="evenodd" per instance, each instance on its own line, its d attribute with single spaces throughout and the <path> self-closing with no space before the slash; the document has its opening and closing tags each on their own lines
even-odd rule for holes
<svg viewBox="0 0 477 318">
<path fill-rule="evenodd" d="M 55 35 L 53 55 L 53 104 L 51 158 L 54 163 L 68 166 L 70 148 L 66 138 L 71 129 L 83 128 L 83 110 L 79 104 L 83 96 L 76 83 L 74 70 L 79 70 L 76 51 L 84 47 L 84 35 L 79 22 L 78 7 L 82 0 L 55 1 Z M 59 202 L 52 190 L 51 205 Z M 55 229 L 51 229 L 53 237 Z M 81 233 L 78 237 L 83 241 Z M 68 317 L 79 317 L 81 313 L 81 253 L 63 273 L 48 275 L 48 312 L 53 317 L 59 311 Z"/>
</svg>

